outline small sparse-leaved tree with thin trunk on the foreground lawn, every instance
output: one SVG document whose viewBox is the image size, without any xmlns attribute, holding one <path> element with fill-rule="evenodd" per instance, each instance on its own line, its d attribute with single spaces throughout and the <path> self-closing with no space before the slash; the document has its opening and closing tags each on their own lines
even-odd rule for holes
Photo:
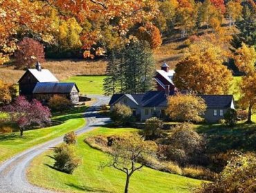
<svg viewBox="0 0 256 193">
<path fill-rule="evenodd" d="M 102 163 L 104 167 L 113 167 L 125 173 L 125 193 L 129 192 L 129 182 L 132 174 L 147 163 L 148 156 L 154 156 L 157 145 L 154 141 L 143 141 L 138 135 L 125 136 L 121 141 L 115 141 L 109 154 L 109 161 Z"/>
</svg>

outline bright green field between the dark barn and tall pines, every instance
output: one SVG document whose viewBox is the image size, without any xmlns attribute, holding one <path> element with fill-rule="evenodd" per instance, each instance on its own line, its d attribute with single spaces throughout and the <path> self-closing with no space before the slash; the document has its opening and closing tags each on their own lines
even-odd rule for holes
<svg viewBox="0 0 256 193">
<path fill-rule="evenodd" d="M 103 80 L 105 76 L 76 76 L 65 82 L 75 82 L 82 94 L 103 94 Z"/>
</svg>

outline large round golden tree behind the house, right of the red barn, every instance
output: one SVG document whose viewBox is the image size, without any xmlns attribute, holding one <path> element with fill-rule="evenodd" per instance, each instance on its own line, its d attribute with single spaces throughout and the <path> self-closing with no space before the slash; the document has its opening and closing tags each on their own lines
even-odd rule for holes
<svg viewBox="0 0 256 193">
<path fill-rule="evenodd" d="M 226 94 L 232 74 L 223 65 L 224 51 L 210 41 L 196 41 L 176 65 L 174 84 L 198 94 Z"/>
</svg>

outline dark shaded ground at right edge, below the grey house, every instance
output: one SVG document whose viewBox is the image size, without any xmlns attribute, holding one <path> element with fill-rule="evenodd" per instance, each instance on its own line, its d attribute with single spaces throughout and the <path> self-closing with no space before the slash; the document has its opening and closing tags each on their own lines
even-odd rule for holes
<svg viewBox="0 0 256 193">
<path fill-rule="evenodd" d="M 239 150 L 242 152 L 256 150 L 256 124 L 237 123 L 234 128 L 223 125 L 201 125 L 197 128 L 205 134 L 210 152 Z"/>
</svg>

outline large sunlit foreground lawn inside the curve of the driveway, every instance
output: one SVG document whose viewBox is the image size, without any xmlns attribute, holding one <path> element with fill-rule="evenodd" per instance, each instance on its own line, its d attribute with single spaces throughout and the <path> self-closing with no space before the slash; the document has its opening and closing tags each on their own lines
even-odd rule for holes
<svg viewBox="0 0 256 193">
<path fill-rule="evenodd" d="M 75 172 L 65 174 L 51 168 L 54 160 L 52 151 L 48 151 L 36 159 L 28 170 L 28 179 L 31 183 L 60 192 L 123 192 L 125 174 L 113 168 L 99 168 L 102 161 L 106 161 L 107 154 L 90 148 L 84 143 L 86 136 L 127 134 L 136 132 L 134 129 L 99 128 L 78 137 L 77 153 L 82 158 L 82 165 Z M 131 176 L 130 192 L 190 192 L 192 187 L 201 181 L 184 176 L 168 174 L 143 167 Z"/>
</svg>

